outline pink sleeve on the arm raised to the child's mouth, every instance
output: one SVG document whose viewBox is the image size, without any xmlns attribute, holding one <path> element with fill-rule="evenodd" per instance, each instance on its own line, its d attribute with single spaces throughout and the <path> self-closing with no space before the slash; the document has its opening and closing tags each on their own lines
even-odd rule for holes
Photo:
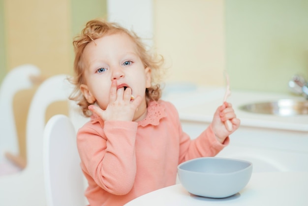
<svg viewBox="0 0 308 206">
<path fill-rule="evenodd" d="M 83 127 L 77 135 L 83 169 L 99 187 L 124 195 L 131 190 L 136 175 L 137 123 L 106 121 L 103 128 L 95 129 Z"/>
</svg>

